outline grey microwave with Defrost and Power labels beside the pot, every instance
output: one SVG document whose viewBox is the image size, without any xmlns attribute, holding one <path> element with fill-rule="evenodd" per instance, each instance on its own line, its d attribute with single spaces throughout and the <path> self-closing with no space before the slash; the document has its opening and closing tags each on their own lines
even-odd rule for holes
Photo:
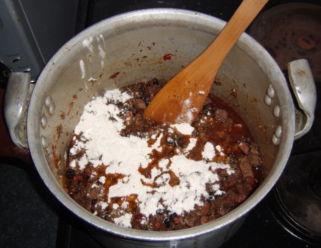
<svg viewBox="0 0 321 248">
<path fill-rule="evenodd" d="M 45 64 L 75 35 L 78 0 L 0 0 L 0 89 L 10 72 L 35 82 Z"/>
</svg>

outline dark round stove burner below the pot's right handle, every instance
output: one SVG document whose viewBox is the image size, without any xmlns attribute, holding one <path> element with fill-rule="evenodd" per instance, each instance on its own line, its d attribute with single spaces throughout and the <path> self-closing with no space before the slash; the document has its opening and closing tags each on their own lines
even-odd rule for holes
<svg viewBox="0 0 321 248">
<path fill-rule="evenodd" d="M 307 238 L 321 238 L 320 151 L 292 155 L 275 189 L 281 211 Z"/>
</svg>

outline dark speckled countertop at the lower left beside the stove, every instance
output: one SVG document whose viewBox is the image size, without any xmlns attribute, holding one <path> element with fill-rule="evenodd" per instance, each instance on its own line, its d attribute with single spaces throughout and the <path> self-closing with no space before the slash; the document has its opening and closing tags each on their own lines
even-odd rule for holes
<svg viewBox="0 0 321 248">
<path fill-rule="evenodd" d="M 61 204 L 34 165 L 0 159 L 0 247 L 55 247 Z"/>
</svg>

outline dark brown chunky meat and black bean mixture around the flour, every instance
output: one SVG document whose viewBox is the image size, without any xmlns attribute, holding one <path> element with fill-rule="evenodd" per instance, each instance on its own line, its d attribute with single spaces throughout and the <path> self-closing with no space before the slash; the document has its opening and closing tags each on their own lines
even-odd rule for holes
<svg viewBox="0 0 321 248">
<path fill-rule="evenodd" d="M 137 137 L 151 136 L 158 128 L 164 128 L 160 124 L 150 122 L 143 116 L 143 111 L 156 93 L 166 84 L 166 80 L 153 79 L 147 82 L 140 82 L 122 87 L 122 92 L 129 92 L 134 98 L 125 103 L 112 102 L 122 109 L 120 117 L 124 120 L 125 127 L 120 131 L 123 137 L 134 135 Z M 108 102 L 110 103 L 110 102 Z M 112 117 L 110 120 L 113 121 Z M 134 195 L 128 196 L 127 201 L 132 202 L 130 211 L 133 213 L 131 225 L 134 229 L 168 231 L 179 230 L 205 224 L 219 218 L 239 204 L 245 201 L 255 188 L 259 185 L 257 175 L 262 164 L 259 146 L 254 143 L 252 135 L 241 117 L 229 105 L 210 94 L 205 100 L 204 106 L 192 124 L 194 132 L 192 137 L 197 138 L 197 145 L 188 152 L 187 158 L 199 161 L 203 159 L 202 151 L 206 142 L 211 142 L 214 146 L 222 147 L 222 154 L 215 158 L 217 161 L 229 164 L 235 173 L 229 175 L 226 169 L 217 169 L 219 177 L 221 195 L 215 194 L 213 185 L 206 184 L 206 192 L 209 197 L 202 199 L 203 205 L 195 205 L 194 210 L 184 211 L 183 214 L 169 212 L 166 209 L 159 209 L 155 214 L 143 216 L 139 207 L 135 204 Z M 76 141 L 81 140 L 81 135 L 74 135 L 70 143 L 72 147 Z M 170 157 L 175 149 L 183 149 L 188 145 L 187 137 L 179 133 L 167 133 L 165 135 L 163 154 L 155 154 L 153 159 Z M 122 213 L 112 207 L 102 209 L 100 205 L 95 205 L 100 196 L 100 192 L 108 195 L 108 188 L 92 187 L 100 177 L 104 175 L 105 165 L 94 168 L 88 163 L 84 170 L 70 167 L 73 160 L 79 159 L 84 151 L 77 154 L 67 153 L 66 173 L 69 195 L 86 210 L 94 213 L 108 221 L 113 222 L 113 218 L 119 217 Z M 204 159 L 204 163 L 207 163 Z M 151 176 L 152 167 L 139 168 L 141 175 L 146 178 Z M 171 174 L 169 172 L 169 174 Z M 123 175 L 106 175 L 109 186 L 117 183 Z M 169 184 L 174 187 L 180 183 L 180 179 L 174 173 L 170 175 Z M 106 186 L 105 186 L 106 187 Z M 159 184 L 154 188 L 160 187 Z M 105 196 L 106 197 L 106 196 Z M 111 204 L 121 203 L 121 199 L 113 199 Z M 142 224 L 142 220 L 146 222 Z"/>
</svg>

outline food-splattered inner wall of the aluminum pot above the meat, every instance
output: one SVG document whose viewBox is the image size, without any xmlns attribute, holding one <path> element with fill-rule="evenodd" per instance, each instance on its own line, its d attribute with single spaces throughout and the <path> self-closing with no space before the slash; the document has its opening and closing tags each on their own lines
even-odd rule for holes
<svg viewBox="0 0 321 248">
<path fill-rule="evenodd" d="M 44 104 L 50 95 L 56 111 L 50 115 L 44 105 L 42 115 L 48 118 L 48 126 L 41 128 L 40 134 L 48 140 L 44 154 L 57 181 L 60 179 L 52 144 L 64 167 L 74 127 L 84 105 L 93 96 L 129 83 L 171 78 L 213 41 L 224 24 L 197 15 L 188 18 L 189 21 L 174 15 L 172 19 L 164 19 L 160 14 L 151 14 L 138 15 L 134 20 L 131 15 L 124 15 L 118 22 L 103 21 L 69 41 L 48 63 L 46 74 L 42 73 L 39 81 L 47 82 L 50 93 L 40 97 L 39 102 Z M 212 92 L 230 102 L 260 144 L 263 179 L 278 153 L 279 146 L 273 145 L 271 140 L 275 128 L 282 122 L 282 115 L 276 118 L 272 114 L 273 107 L 280 104 L 277 92 L 271 106 L 264 103 L 267 87 L 275 82 L 261 69 L 263 62 L 254 60 L 251 52 L 245 51 L 246 42 L 246 37 L 241 38 L 230 51 L 217 75 L 219 83 L 213 84 Z M 173 54 L 171 60 L 164 60 L 165 54 Z M 259 60 L 265 60 L 264 55 Z"/>
</svg>

